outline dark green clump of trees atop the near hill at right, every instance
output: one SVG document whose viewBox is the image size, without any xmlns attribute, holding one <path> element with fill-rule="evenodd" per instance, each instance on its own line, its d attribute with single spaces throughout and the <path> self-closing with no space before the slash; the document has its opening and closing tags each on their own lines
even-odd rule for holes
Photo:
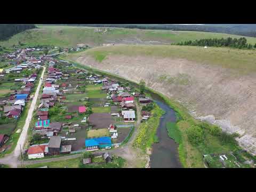
<svg viewBox="0 0 256 192">
<path fill-rule="evenodd" d="M 185 41 L 185 42 L 180 42 L 175 45 L 191 45 L 191 46 L 215 46 L 215 47 L 233 47 L 233 48 L 238 48 L 238 49 L 253 49 L 256 48 L 256 44 L 253 46 L 252 44 L 247 44 L 246 38 L 221 38 L 221 39 L 199 39 L 195 41 Z"/>
</svg>

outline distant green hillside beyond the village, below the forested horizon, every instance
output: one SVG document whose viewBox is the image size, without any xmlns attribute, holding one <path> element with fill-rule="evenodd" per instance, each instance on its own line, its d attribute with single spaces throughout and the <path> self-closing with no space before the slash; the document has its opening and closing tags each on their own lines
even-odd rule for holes
<svg viewBox="0 0 256 192">
<path fill-rule="evenodd" d="M 97 29 L 93 27 L 39 26 L 37 29 L 26 30 L 14 35 L 7 41 L 0 42 L 0 45 L 13 46 L 18 45 L 19 42 L 25 44 L 25 46 L 54 45 L 63 47 L 77 46 L 77 44 L 99 46 L 103 43 L 170 44 L 201 38 L 241 37 L 197 31 L 100 28 L 102 31 L 97 32 Z M 247 43 L 253 45 L 256 43 L 254 37 L 246 37 L 246 39 Z"/>
</svg>

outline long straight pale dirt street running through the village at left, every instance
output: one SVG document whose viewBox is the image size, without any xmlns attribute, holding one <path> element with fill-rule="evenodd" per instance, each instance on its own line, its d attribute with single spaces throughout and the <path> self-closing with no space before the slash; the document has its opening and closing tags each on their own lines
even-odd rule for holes
<svg viewBox="0 0 256 192">
<path fill-rule="evenodd" d="M 14 151 L 10 155 L 6 155 L 6 157 L 0 159 L 0 164 L 7 164 L 7 165 L 10 165 L 11 167 L 17 167 L 18 165 L 18 157 L 20 156 L 20 147 L 23 149 L 23 146 L 27 138 L 29 124 L 33 116 L 33 111 L 35 110 L 35 105 L 38 98 L 40 87 L 42 85 L 42 81 L 43 81 L 42 79 L 43 79 L 44 73 L 45 73 L 45 67 L 43 67 L 42 75 L 39 78 L 39 83 L 38 83 L 33 101 L 30 105 L 25 125 L 23 126 L 22 132 L 17 142 L 17 146 L 15 147 Z"/>
</svg>

